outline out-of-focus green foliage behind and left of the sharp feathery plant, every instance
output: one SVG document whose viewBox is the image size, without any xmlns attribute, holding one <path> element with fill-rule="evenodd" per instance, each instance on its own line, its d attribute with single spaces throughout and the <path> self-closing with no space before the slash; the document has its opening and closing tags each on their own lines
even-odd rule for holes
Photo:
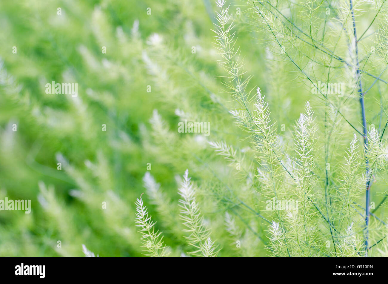
<svg viewBox="0 0 388 284">
<path fill-rule="evenodd" d="M 224 214 L 218 214 L 219 197 L 227 183 L 255 208 L 255 190 L 233 187 L 240 185 L 203 136 L 163 132 L 175 130 L 180 114 L 211 121 L 211 140 L 245 145 L 244 133 L 214 97 L 230 102 L 216 79 L 223 71 L 215 61 L 214 10 L 208 0 L 0 0 L 0 199 L 31 199 L 32 206 L 31 214 L 0 211 L 0 256 L 84 256 L 82 244 L 100 256 L 141 256 L 134 202 L 145 192 L 148 163 L 175 213 L 178 177 L 188 168 L 201 181 L 198 198 L 223 248 L 220 255 L 238 255 Z M 241 16 L 239 22 L 248 19 Z M 295 79 L 293 66 L 268 62 L 254 30 L 236 26 L 238 45 L 247 47 L 241 57 L 254 75 L 252 88 L 259 85 L 267 95 L 277 126 L 289 129 L 311 99 L 310 87 Z M 51 81 L 78 83 L 78 96 L 46 94 Z M 163 125 L 149 122 L 154 109 Z M 164 227 L 143 198 L 165 243 L 179 256 L 184 239 Z M 245 217 L 241 227 L 249 222 L 265 239 L 267 229 L 255 228 L 255 216 Z M 257 237 L 246 237 L 255 249 L 245 255 L 266 255 Z"/>
</svg>

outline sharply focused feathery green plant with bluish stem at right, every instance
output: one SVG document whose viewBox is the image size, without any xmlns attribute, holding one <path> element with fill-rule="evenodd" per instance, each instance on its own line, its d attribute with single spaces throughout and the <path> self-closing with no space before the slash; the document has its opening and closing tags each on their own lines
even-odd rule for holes
<svg viewBox="0 0 388 284">
<path fill-rule="evenodd" d="M 376 7 L 377 12 L 367 29 L 375 23 L 379 31 L 385 30 L 385 1 L 371 5 Z M 215 208 L 221 210 L 223 207 L 227 211 L 227 230 L 234 238 L 242 239 L 243 234 L 228 213 L 231 211 L 273 256 L 368 256 L 374 246 L 381 245 L 386 249 L 386 223 L 374 214 L 386 199 L 386 188 L 382 189 L 384 197 L 377 207 L 370 201 L 372 183 L 379 180 L 386 184 L 388 148 L 383 135 L 387 124 L 381 125 L 381 116 L 386 116 L 386 106 L 381 100 L 381 111 L 373 118 L 380 119 L 378 128 L 373 121 L 367 126 L 365 111 L 365 94 L 377 93 L 383 97 L 381 88 L 385 89 L 387 83 L 381 76 L 387 68 L 386 52 L 374 52 L 375 46 L 380 48 L 382 45 L 380 34 L 374 39 L 377 43 L 366 40 L 364 35 L 367 30 L 357 40 L 355 21 L 357 14 L 363 15 L 362 9 L 369 4 L 357 2 L 353 6 L 352 0 L 338 3 L 303 1 L 296 6 L 289 2 L 246 2 L 246 17 L 244 20 L 239 18 L 237 25 L 248 21 L 255 27 L 251 33 L 266 39 L 269 63 L 280 61 L 279 66 L 290 68 L 282 71 L 293 72 L 300 81 L 298 89 L 301 93 L 306 91 L 303 84 L 311 84 L 310 101 L 314 102 L 317 114 L 307 101 L 305 112 L 300 114 L 293 130 L 286 133 L 279 131 L 279 123 L 270 112 L 271 107 L 279 102 L 272 100 L 269 105 L 258 87 L 256 94 L 252 92 L 256 88 L 251 84 L 253 76 L 247 75 L 246 61 L 240 56 L 241 49 L 246 47 L 236 47 L 236 25 L 231 20 L 230 6 L 227 7 L 224 0 L 218 0 L 217 6 L 219 10 L 216 11 L 214 29 L 220 55 L 217 61 L 225 73 L 219 78 L 231 101 L 215 94 L 211 94 L 210 99 L 225 110 L 223 115 L 229 112 L 235 119 L 240 131 L 234 133 L 241 137 L 241 147 L 235 149 L 228 142 L 231 135 L 223 135 L 217 123 L 213 123 L 213 127 L 217 128 L 213 131 L 220 141 L 209 141 L 209 145 L 225 158 L 229 166 L 237 169 L 235 174 L 240 183 L 232 184 L 239 188 L 247 184 L 247 190 L 251 191 L 232 190 L 223 178 L 217 177 L 217 170 L 211 169 L 213 178 L 220 183 L 211 183 L 210 187 L 221 189 L 210 189 L 204 174 L 200 174 L 200 182 L 207 185 L 205 190 L 210 190 L 218 201 Z M 285 16 L 284 11 L 291 16 Z M 334 13 L 333 18 L 328 17 L 331 12 Z M 362 59 L 359 58 L 361 39 L 364 40 Z M 379 76 L 368 70 L 374 64 L 381 70 Z M 275 68 L 270 71 L 276 73 Z M 282 75 L 270 73 L 269 76 Z M 364 80 L 365 85 L 369 83 L 366 91 L 362 87 Z M 385 85 L 378 85 L 379 88 L 374 88 L 375 93 L 372 93 L 372 87 L 379 82 Z M 281 84 L 284 85 L 284 81 Z M 345 84 L 348 87 L 346 90 Z M 284 86 L 272 85 L 270 95 L 281 87 L 285 89 Z M 361 115 L 355 111 L 357 103 Z M 369 100 L 367 106 L 372 109 L 373 105 L 373 100 Z M 187 116 L 186 110 L 177 114 L 181 119 L 191 121 L 201 116 L 199 113 Z M 361 121 L 362 130 L 358 130 L 357 121 Z M 158 125 L 155 120 L 151 122 L 154 126 Z M 163 135 L 159 132 L 158 140 L 166 137 L 170 130 L 164 128 L 164 131 Z M 359 145 L 357 135 L 362 138 L 362 145 Z M 180 144 L 179 141 L 176 143 Z M 172 148 L 177 147 L 174 144 Z M 197 158 L 199 163 L 208 163 L 207 159 L 201 159 L 196 154 L 192 157 Z M 246 204 L 247 197 L 253 196 L 255 206 L 260 208 L 260 203 L 267 204 L 265 210 L 256 210 Z M 185 204 L 187 206 L 190 202 Z M 237 209 L 251 212 L 251 223 L 267 227 L 268 235 L 263 237 L 256 232 Z M 201 238 L 197 237 L 195 241 L 199 242 Z M 189 239 L 191 242 L 194 239 Z"/>
</svg>

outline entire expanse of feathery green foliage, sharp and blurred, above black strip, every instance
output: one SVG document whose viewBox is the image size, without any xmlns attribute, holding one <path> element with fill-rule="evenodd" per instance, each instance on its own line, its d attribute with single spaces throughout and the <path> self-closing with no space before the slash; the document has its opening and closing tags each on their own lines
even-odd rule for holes
<svg viewBox="0 0 388 284">
<path fill-rule="evenodd" d="M 385 0 L 0 11 L 0 256 L 388 255 Z"/>
</svg>

